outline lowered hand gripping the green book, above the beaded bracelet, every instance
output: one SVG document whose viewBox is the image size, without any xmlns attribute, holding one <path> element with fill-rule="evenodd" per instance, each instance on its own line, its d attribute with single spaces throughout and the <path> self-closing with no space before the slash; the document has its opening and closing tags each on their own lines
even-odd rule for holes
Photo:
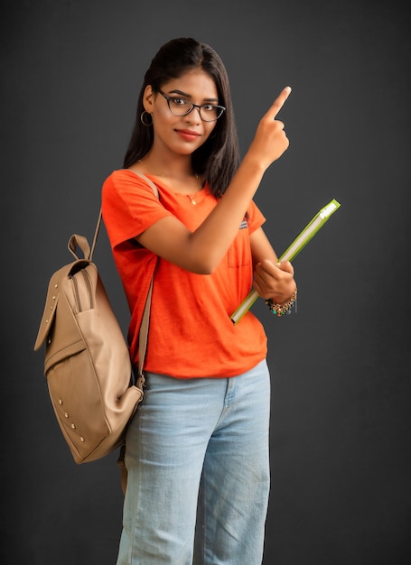
<svg viewBox="0 0 411 565">
<path fill-rule="evenodd" d="M 272 298 L 282 304 L 293 295 L 296 288 L 294 267 L 289 261 L 274 264 L 265 259 L 256 265 L 253 286 L 262 298 Z"/>
</svg>

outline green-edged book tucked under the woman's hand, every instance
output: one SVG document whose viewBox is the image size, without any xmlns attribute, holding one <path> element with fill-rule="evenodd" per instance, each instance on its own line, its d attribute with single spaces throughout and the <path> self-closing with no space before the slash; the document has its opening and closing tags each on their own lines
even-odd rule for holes
<svg viewBox="0 0 411 565">
<path fill-rule="evenodd" d="M 331 218 L 332 214 L 340 208 L 340 202 L 337 200 L 332 200 L 327 206 L 324 206 L 318 214 L 314 216 L 311 222 L 304 227 L 303 231 L 295 237 L 293 243 L 286 249 L 286 251 L 279 257 L 278 261 L 292 261 L 296 255 L 300 253 L 305 245 L 310 241 L 310 239 L 315 236 L 317 231 L 322 227 L 328 218 Z M 256 291 L 251 291 L 247 298 L 241 302 L 238 309 L 231 316 L 231 321 L 237 324 L 239 320 L 248 312 L 251 306 L 257 301 L 258 293 Z"/>
</svg>

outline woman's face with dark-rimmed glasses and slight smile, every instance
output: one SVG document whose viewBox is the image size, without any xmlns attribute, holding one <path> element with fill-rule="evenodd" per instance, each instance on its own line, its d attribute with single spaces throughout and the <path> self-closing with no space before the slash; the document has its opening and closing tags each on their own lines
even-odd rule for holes
<svg viewBox="0 0 411 565">
<path fill-rule="evenodd" d="M 204 70 L 190 70 L 178 79 L 164 83 L 161 92 L 167 97 L 178 98 L 194 104 L 220 104 L 214 80 Z M 143 99 L 145 110 L 153 116 L 154 145 L 156 149 L 191 155 L 206 142 L 217 121 L 207 122 L 194 107 L 186 116 L 174 116 L 167 100 L 151 86 L 145 88 Z M 202 110 L 201 110 L 202 111 Z"/>
</svg>

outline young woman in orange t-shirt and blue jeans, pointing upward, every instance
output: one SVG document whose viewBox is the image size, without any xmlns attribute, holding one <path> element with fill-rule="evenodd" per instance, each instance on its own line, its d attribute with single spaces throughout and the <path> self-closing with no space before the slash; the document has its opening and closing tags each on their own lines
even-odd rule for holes
<svg viewBox="0 0 411 565">
<path fill-rule="evenodd" d="M 238 165 L 229 80 L 208 45 L 167 42 L 145 74 L 124 168 L 103 217 L 131 311 L 130 354 L 154 273 L 145 399 L 126 436 L 117 565 L 259 565 L 269 491 L 266 334 L 230 315 L 254 285 L 276 310 L 296 293 L 252 199 L 288 147 L 276 98 Z M 150 185 L 135 174 L 154 181 Z M 274 306 L 273 306 L 274 304 Z M 279 310 L 281 311 L 281 309 Z"/>
</svg>

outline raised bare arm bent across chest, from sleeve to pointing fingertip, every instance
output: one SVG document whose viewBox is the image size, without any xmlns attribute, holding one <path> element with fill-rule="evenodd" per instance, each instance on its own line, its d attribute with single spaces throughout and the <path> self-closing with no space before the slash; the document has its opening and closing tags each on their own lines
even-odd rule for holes
<svg viewBox="0 0 411 565">
<path fill-rule="evenodd" d="M 263 116 L 223 198 L 200 227 L 191 232 L 177 218 L 162 218 L 137 236 L 137 241 L 182 269 L 199 274 L 212 273 L 238 234 L 238 226 L 266 169 L 289 145 L 284 124 L 276 120 L 276 115 L 290 92 L 290 88 L 284 88 Z"/>
</svg>

